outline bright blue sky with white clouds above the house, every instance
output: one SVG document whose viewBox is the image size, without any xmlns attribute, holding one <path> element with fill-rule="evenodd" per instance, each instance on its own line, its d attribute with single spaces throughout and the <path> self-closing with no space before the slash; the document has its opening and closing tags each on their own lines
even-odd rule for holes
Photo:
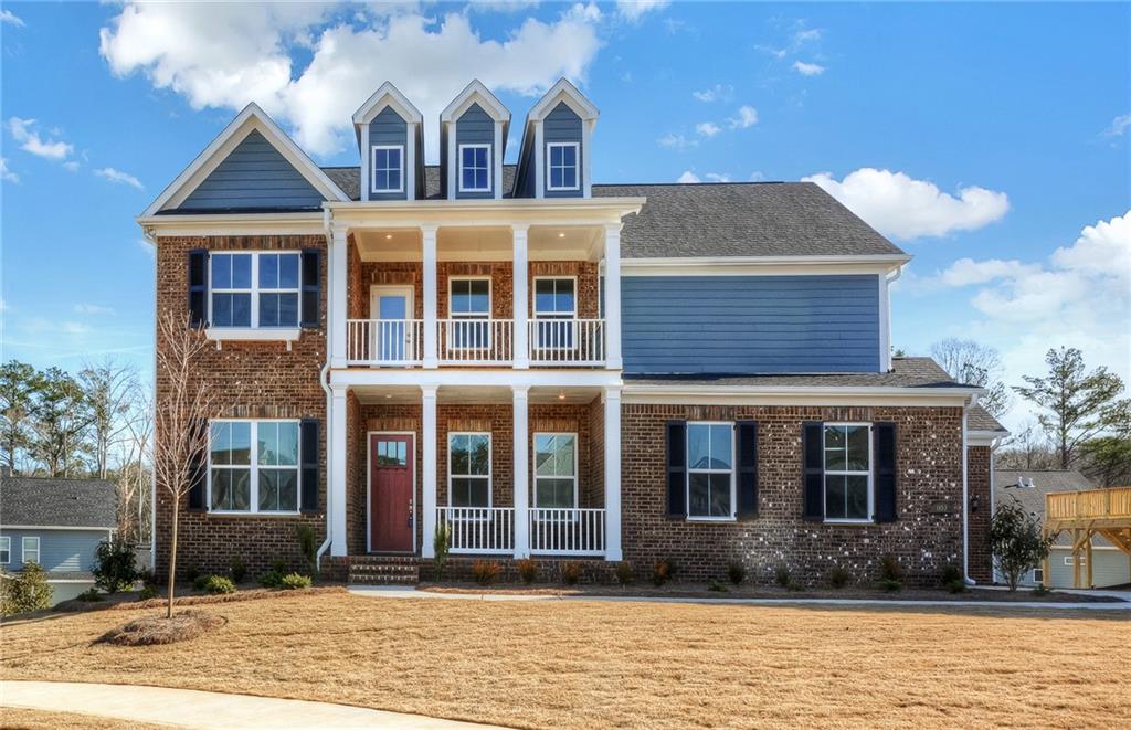
<svg viewBox="0 0 1131 730">
<path fill-rule="evenodd" d="M 1126 3 L 0 8 L 5 359 L 152 367 L 133 216 L 248 101 L 356 164 L 387 78 L 434 145 L 472 76 L 520 120 L 566 75 L 597 182 L 811 177 L 914 254 L 897 347 L 974 337 L 1018 383 L 1074 345 L 1131 377 Z"/>
</svg>

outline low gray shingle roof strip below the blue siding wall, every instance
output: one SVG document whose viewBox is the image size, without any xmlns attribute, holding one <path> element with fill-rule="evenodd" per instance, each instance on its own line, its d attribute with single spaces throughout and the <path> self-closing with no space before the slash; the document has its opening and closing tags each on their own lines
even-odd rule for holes
<svg viewBox="0 0 1131 730">
<path fill-rule="evenodd" d="M 970 388 L 956 383 L 947 371 L 930 357 L 893 357 L 890 373 L 817 373 L 772 375 L 674 375 L 671 377 L 633 376 L 627 383 L 734 385 L 766 388 Z"/>
</svg>

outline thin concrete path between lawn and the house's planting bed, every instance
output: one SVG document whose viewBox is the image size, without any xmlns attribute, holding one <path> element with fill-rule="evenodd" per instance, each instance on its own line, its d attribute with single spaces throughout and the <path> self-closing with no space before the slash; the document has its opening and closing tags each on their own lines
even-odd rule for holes
<svg viewBox="0 0 1131 730">
<path fill-rule="evenodd" d="M 351 593 L 370 598 L 439 599 L 470 601 L 642 601 L 646 603 L 705 603 L 708 606 L 848 606 L 873 608 L 948 607 L 948 608 L 1044 608 L 1051 610 L 1131 611 L 1131 603 L 1050 603 L 1043 601 L 934 601 L 860 598 L 681 598 L 677 596 L 550 596 L 545 593 L 437 593 L 387 585 L 349 585 Z"/>
</svg>

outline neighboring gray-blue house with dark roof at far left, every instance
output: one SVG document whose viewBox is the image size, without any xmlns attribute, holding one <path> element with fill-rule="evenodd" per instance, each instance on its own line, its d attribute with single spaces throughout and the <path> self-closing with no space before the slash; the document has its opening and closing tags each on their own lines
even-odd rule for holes
<svg viewBox="0 0 1131 730">
<path fill-rule="evenodd" d="M 0 568 L 48 571 L 54 601 L 94 584 L 98 542 L 118 529 L 114 485 L 105 479 L 0 478 Z"/>
</svg>

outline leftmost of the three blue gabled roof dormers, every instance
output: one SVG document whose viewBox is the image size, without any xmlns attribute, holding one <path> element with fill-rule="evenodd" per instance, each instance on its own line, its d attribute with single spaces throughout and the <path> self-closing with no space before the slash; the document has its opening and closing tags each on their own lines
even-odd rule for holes
<svg viewBox="0 0 1131 730">
<path fill-rule="evenodd" d="M 423 121 L 420 111 L 388 81 L 354 112 L 362 200 L 424 197 Z"/>
</svg>

